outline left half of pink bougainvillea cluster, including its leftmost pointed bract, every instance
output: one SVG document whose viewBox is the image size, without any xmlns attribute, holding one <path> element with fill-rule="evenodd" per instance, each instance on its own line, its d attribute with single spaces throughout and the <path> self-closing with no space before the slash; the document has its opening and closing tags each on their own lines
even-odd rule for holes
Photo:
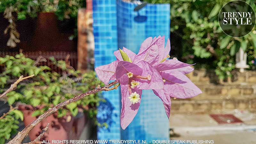
<svg viewBox="0 0 256 144">
<path fill-rule="evenodd" d="M 126 55 L 126 60 L 121 52 Z M 164 82 L 159 72 L 149 62 L 140 60 L 132 63 L 136 57 L 132 51 L 123 48 L 123 50 L 115 51 L 114 54 L 116 61 L 97 67 L 95 71 L 105 84 L 110 80 L 120 83 L 122 94 L 120 123 L 125 129 L 139 110 L 142 90 L 163 89 Z M 163 101 L 168 103 L 166 98 Z"/>
</svg>

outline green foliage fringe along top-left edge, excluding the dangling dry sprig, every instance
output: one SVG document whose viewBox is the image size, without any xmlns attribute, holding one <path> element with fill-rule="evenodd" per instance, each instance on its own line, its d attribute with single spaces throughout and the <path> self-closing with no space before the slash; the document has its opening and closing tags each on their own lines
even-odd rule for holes
<svg viewBox="0 0 256 144">
<path fill-rule="evenodd" d="M 0 12 L 12 7 L 18 20 L 36 17 L 38 12 L 54 12 L 59 20 L 77 18 L 80 7 L 85 7 L 85 0 L 1 0 Z"/>
</svg>

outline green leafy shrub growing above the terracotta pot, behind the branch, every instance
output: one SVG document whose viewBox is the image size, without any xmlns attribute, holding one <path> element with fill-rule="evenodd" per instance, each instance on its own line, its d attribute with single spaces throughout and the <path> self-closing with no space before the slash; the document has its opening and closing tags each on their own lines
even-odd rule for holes
<svg viewBox="0 0 256 144">
<path fill-rule="evenodd" d="M 35 112 L 32 116 L 38 116 L 60 102 L 95 89 L 98 84 L 103 85 L 93 71 L 81 73 L 66 64 L 65 61 L 57 61 L 54 58 L 51 58 L 51 63 L 61 69 L 61 75 L 51 71 L 51 68 L 48 66 L 39 66 L 35 60 L 25 57 L 23 53 L 17 54 L 15 57 L 9 55 L 0 57 L 0 68 L 3 69 L 2 73 L 0 73 L 0 93 L 9 88 L 19 76 L 30 76 L 35 74 L 34 77 L 20 82 L 15 91 L 7 93 L 7 102 L 10 105 L 15 104 L 16 102 L 31 105 L 35 108 Z M 76 116 L 80 108 L 84 110 L 89 117 L 94 118 L 97 124 L 95 118 L 97 114 L 96 107 L 101 100 L 100 93 L 88 95 L 81 100 L 61 108 L 58 111 L 58 117 L 69 114 Z M 10 115 L 20 115 L 20 113 L 20 111 L 18 112 L 18 110 L 14 110 Z M 14 118 L 13 116 L 8 116 L 6 117 L 8 120 L 1 120 L 0 127 L 3 124 L 16 123 L 17 121 L 14 120 L 17 120 L 19 117 L 23 120 L 21 115 L 19 117 L 16 115 Z M 0 129 L 2 130 L 2 128 Z M 10 130 L 8 130 L 8 133 L 11 133 L 11 131 L 9 131 Z M 9 134 L 7 136 L 5 135 L 4 138 L 9 139 Z M 3 133 L 0 132 L 0 138 L 1 137 L 3 137 Z"/>
</svg>

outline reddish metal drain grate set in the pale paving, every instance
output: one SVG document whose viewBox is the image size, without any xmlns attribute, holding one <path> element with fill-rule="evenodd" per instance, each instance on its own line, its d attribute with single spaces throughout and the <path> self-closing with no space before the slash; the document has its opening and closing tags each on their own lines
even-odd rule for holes
<svg viewBox="0 0 256 144">
<path fill-rule="evenodd" d="M 239 118 L 232 114 L 212 114 L 210 115 L 218 124 L 243 123 Z"/>
</svg>

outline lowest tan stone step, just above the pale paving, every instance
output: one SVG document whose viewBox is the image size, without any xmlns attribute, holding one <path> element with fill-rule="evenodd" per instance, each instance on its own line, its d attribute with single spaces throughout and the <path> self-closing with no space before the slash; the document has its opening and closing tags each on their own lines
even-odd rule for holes
<svg viewBox="0 0 256 144">
<path fill-rule="evenodd" d="M 182 100 L 172 98 L 171 105 L 172 113 L 205 113 L 231 109 L 255 111 L 256 95 L 240 97 L 204 96 L 203 100 L 199 100 L 196 97 Z"/>
</svg>

